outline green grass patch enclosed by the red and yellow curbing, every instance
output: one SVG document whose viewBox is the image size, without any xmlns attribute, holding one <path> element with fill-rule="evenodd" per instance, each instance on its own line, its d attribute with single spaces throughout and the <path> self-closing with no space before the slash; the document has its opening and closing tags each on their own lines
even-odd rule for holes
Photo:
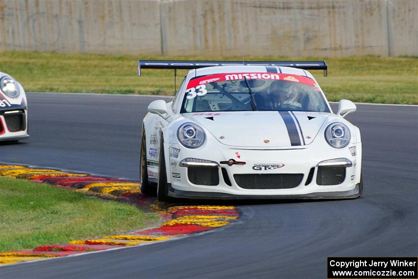
<svg viewBox="0 0 418 279">
<path fill-rule="evenodd" d="M 101 237 L 155 225 L 133 205 L 0 177 L 0 252 Z"/>
</svg>

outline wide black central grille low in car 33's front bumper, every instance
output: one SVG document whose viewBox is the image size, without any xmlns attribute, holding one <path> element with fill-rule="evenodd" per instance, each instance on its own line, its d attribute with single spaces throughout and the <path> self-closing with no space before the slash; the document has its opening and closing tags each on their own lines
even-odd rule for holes
<svg viewBox="0 0 418 279">
<path fill-rule="evenodd" d="M 234 179 L 244 189 L 290 189 L 299 186 L 303 174 L 234 174 Z"/>
</svg>

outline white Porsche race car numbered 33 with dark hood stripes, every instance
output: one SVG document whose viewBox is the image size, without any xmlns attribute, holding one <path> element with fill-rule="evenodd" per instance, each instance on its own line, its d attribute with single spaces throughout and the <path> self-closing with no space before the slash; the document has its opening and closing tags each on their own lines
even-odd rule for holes
<svg viewBox="0 0 418 279">
<path fill-rule="evenodd" d="M 333 113 L 306 69 L 325 62 L 139 61 L 190 69 L 173 101 L 155 100 L 143 120 L 140 180 L 170 197 L 355 198 L 361 195 L 361 138 Z"/>
</svg>

